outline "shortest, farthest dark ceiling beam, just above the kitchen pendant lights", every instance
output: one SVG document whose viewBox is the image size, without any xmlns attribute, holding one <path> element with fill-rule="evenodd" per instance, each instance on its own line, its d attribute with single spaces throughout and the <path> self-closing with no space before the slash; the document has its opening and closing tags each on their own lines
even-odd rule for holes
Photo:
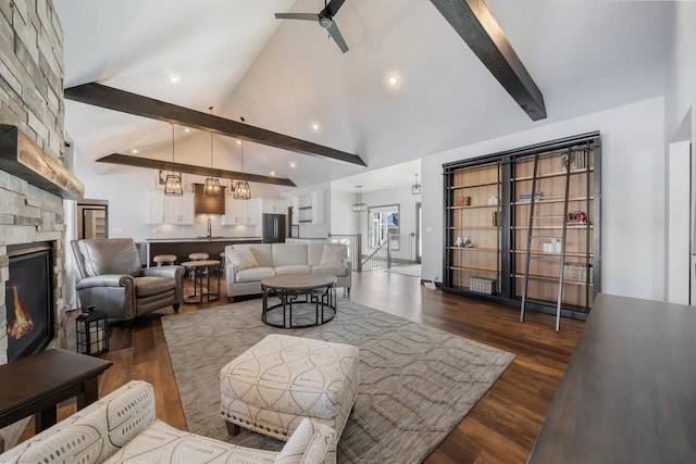
<svg viewBox="0 0 696 464">
<path fill-rule="evenodd" d="M 129 156 L 127 154 L 112 153 L 97 160 L 99 163 L 122 164 L 125 166 L 147 167 L 151 170 L 174 171 L 176 173 L 196 174 L 206 177 L 220 177 L 223 179 L 248 180 L 250 183 L 273 184 L 279 186 L 297 187 L 295 183 L 285 177 L 261 176 L 259 174 L 238 173 L 236 171 L 216 170 L 214 167 L 195 166 L 192 164 L 174 163 L 172 161 L 152 160 L 150 158 Z"/>
</svg>

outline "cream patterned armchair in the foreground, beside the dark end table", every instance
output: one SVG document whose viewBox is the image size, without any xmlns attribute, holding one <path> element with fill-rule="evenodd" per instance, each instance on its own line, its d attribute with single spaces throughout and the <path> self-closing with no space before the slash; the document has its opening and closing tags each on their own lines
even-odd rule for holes
<svg viewBox="0 0 696 464">
<path fill-rule="evenodd" d="M 0 454 L 0 463 L 318 464 L 334 435 L 331 427 L 306 419 L 279 452 L 201 437 L 158 421 L 154 389 L 133 380 Z"/>
</svg>

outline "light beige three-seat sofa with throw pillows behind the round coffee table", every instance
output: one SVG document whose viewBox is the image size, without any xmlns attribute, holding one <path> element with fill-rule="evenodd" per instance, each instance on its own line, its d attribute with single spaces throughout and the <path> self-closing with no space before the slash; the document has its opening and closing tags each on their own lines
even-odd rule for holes
<svg viewBox="0 0 696 464">
<path fill-rule="evenodd" d="M 252 255 L 245 260 L 246 249 Z M 336 276 L 336 287 L 350 294 L 351 265 L 345 243 L 247 243 L 225 247 L 227 298 L 261 293 L 261 279 L 291 273 Z"/>
</svg>

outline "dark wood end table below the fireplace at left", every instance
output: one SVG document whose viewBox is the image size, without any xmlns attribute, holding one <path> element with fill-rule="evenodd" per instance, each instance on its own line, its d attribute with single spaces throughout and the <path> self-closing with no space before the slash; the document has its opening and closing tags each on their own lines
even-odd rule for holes
<svg viewBox="0 0 696 464">
<path fill-rule="evenodd" d="M 99 398 L 97 378 L 111 361 L 60 349 L 0 366 L 0 428 L 36 414 L 36 432 L 55 424 L 59 402 L 77 397 L 77 409 Z"/>
</svg>

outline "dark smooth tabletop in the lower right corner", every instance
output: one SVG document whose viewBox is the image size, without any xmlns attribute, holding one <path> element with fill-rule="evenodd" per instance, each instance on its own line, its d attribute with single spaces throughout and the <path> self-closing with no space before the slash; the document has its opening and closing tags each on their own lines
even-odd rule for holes
<svg viewBox="0 0 696 464">
<path fill-rule="evenodd" d="M 599 294 L 530 463 L 696 459 L 696 308 Z"/>
</svg>

